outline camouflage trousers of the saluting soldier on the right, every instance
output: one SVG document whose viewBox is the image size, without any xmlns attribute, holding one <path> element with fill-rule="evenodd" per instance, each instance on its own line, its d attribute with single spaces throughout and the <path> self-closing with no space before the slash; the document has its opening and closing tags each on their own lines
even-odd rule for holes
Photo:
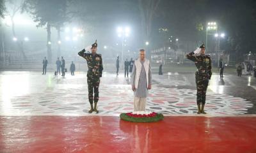
<svg viewBox="0 0 256 153">
<path fill-rule="evenodd" d="M 209 84 L 208 79 L 204 79 L 203 77 L 196 76 L 196 103 L 197 104 L 204 104 L 206 99 L 206 91 Z"/>
</svg>

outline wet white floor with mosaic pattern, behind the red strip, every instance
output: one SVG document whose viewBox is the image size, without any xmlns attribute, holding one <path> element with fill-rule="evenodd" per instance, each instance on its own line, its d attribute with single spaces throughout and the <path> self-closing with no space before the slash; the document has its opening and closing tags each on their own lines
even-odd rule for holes
<svg viewBox="0 0 256 153">
<path fill-rule="evenodd" d="M 83 72 L 65 78 L 36 72 L 5 72 L 0 74 L 0 78 L 0 115 L 91 115 L 87 113 L 88 90 Z M 154 75 L 153 79 L 147 110 L 165 115 L 195 114 L 196 90 L 191 77 Z M 133 110 L 130 79 L 104 73 L 100 81 L 100 113 L 97 115 L 119 115 Z M 209 115 L 244 114 L 253 107 L 251 101 L 216 92 L 222 87 L 216 85 L 214 79 L 211 81 L 205 108 Z"/>
</svg>

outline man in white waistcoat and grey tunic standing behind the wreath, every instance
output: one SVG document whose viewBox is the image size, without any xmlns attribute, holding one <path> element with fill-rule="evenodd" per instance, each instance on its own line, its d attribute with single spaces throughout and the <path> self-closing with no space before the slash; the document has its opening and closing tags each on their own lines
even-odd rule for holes
<svg viewBox="0 0 256 153">
<path fill-rule="evenodd" d="M 145 58 L 145 50 L 140 50 L 140 58 L 134 61 L 131 75 L 132 91 L 134 91 L 134 112 L 145 111 L 148 90 L 151 89 L 151 66 Z"/>
</svg>

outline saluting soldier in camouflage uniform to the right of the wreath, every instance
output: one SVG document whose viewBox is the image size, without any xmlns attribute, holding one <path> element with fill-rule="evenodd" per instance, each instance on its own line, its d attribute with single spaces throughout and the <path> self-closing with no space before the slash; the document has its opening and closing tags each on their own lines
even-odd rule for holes
<svg viewBox="0 0 256 153">
<path fill-rule="evenodd" d="M 198 106 L 198 114 L 204 113 L 205 97 L 207 86 L 212 75 L 212 66 L 211 66 L 211 57 L 205 55 L 205 46 L 204 44 L 200 46 L 195 52 L 191 52 L 186 55 L 186 57 L 195 62 L 196 64 L 196 103 Z M 200 105 L 202 104 L 202 107 Z"/>
</svg>

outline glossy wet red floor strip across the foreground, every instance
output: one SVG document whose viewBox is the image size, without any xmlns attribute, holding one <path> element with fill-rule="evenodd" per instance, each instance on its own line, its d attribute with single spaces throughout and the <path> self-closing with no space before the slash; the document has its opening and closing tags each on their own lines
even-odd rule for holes
<svg viewBox="0 0 256 153">
<path fill-rule="evenodd" d="M 0 152 L 256 152 L 256 117 L 0 117 Z"/>
</svg>

